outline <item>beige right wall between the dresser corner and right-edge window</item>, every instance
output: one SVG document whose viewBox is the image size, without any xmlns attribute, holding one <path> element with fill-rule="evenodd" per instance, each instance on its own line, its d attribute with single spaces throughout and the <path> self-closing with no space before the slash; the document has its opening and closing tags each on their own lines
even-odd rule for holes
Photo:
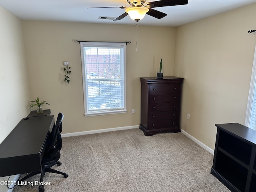
<svg viewBox="0 0 256 192">
<path fill-rule="evenodd" d="M 255 10 L 251 4 L 176 30 L 174 75 L 185 78 L 181 128 L 212 149 L 215 124 L 245 121 Z"/>
</svg>

